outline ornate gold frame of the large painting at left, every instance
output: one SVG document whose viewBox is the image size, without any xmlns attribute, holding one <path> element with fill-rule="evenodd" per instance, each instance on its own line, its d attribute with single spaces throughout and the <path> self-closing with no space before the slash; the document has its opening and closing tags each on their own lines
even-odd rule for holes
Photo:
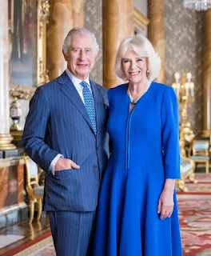
<svg viewBox="0 0 211 256">
<path fill-rule="evenodd" d="M 37 86 L 49 81 L 46 74 L 46 23 L 48 22 L 50 0 L 38 0 L 37 6 Z M 30 99 L 36 87 L 10 85 L 10 98 Z"/>
</svg>

